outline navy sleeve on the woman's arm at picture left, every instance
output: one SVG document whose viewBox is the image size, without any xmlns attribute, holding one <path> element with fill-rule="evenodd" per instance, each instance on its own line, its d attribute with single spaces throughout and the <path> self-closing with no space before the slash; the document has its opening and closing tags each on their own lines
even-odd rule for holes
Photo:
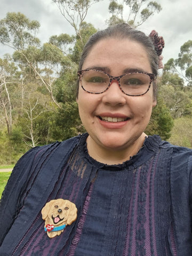
<svg viewBox="0 0 192 256">
<path fill-rule="evenodd" d="M 19 159 L 5 186 L 0 201 L 0 245 L 22 206 L 22 199 L 31 175 L 31 166 L 40 148 L 30 149 Z"/>
</svg>

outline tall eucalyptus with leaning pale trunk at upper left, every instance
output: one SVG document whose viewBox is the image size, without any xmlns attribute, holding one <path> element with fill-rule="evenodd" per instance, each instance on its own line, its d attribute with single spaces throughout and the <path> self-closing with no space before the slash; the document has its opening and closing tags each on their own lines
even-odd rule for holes
<svg viewBox="0 0 192 256">
<path fill-rule="evenodd" d="M 45 86 L 51 100 L 60 108 L 55 100 L 54 82 L 59 77 L 61 62 L 65 57 L 61 50 L 51 44 L 41 42 L 37 38 L 40 24 L 30 21 L 24 14 L 7 13 L 0 21 L 0 43 L 14 50 L 13 59 L 29 69 L 29 74 Z"/>
</svg>

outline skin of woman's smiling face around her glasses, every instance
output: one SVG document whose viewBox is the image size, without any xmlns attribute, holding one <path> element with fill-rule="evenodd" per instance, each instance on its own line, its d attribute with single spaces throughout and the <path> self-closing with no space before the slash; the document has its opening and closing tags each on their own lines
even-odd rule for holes
<svg viewBox="0 0 192 256">
<path fill-rule="evenodd" d="M 95 44 L 82 69 L 100 69 L 113 76 L 129 70 L 152 73 L 145 48 L 129 39 L 118 38 L 102 39 Z M 141 140 L 156 105 L 152 84 L 146 94 L 131 97 L 119 89 L 116 81 L 101 94 L 88 93 L 79 85 L 77 103 L 82 123 L 90 135 L 87 147 L 115 151 L 127 150 Z"/>
</svg>

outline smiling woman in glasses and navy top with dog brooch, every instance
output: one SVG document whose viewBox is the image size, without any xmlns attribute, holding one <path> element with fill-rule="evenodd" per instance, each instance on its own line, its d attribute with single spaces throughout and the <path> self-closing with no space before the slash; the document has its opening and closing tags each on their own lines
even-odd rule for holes
<svg viewBox="0 0 192 256">
<path fill-rule="evenodd" d="M 77 89 L 87 133 L 19 160 L 2 198 L 0 255 L 192 255 L 192 150 L 144 133 L 163 47 L 125 24 L 90 38 Z M 44 223 L 50 204 L 55 225 L 65 220 L 58 199 L 77 208 L 59 235 Z"/>
</svg>

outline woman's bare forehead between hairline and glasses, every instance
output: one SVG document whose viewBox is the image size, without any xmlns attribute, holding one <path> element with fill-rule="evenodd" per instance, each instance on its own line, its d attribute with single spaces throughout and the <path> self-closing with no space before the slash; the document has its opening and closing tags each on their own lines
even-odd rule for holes
<svg viewBox="0 0 192 256">
<path fill-rule="evenodd" d="M 83 63 L 82 69 L 138 69 L 151 73 L 148 53 L 142 44 L 130 39 L 106 38 L 97 42 Z M 97 69 L 97 68 L 96 68 Z M 109 69 L 109 70 L 106 70 Z"/>
</svg>

